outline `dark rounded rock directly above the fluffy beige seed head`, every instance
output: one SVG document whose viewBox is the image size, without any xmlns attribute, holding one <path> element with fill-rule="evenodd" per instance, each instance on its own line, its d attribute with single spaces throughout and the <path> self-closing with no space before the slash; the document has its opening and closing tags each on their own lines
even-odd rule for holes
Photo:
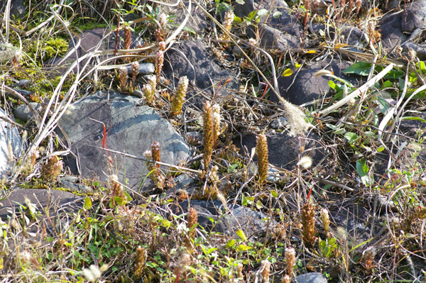
<svg viewBox="0 0 426 283">
<path fill-rule="evenodd" d="M 356 76 L 343 74 L 346 67 L 349 67 L 347 62 L 333 61 L 330 65 L 329 62 L 313 63 L 306 69 L 300 70 L 298 74 L 296 71 L 293 71 L 293 74 L 288 77 L 278 77 L 280 95 L 296 105 L 322 99 L 329 94 L 330 87 L 328 83 L 330 78 L 325 76 L 314 77 L 315 72 L 323 69 L 333 70 L 334 75 L 337 77 L 356 84 Z M 297 77 L 295 78 L 295 76 Z M 277 99 L 275 96 L 271 96 L 271 100 L 276 101 Z"/>
</svg>

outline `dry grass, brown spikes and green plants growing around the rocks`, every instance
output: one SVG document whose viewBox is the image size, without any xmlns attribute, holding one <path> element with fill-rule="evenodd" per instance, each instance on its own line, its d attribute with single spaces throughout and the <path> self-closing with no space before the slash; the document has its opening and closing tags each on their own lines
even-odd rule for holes
<svg viewBox="0 0 426 283">
<path fill-rule="evenodd" d="M 196 138 L 187 140 L 195 157 L 180 167 L 170 166 L 170 172 L 160 167 L 166 165 L 161 163 L 159 143 L 145 152 L 141 159 L 150 169 L 148 177 L 157 194 L 126 189 L 114 169 L 105 168 L 109 182 L 86 180 L 94 194 L 82 196 L 82 206 L 73 213 L 46 218 L 34 204 L 23 204 L 16 216 L 0 223 L 2 282 L 290 282 L 314 271 L 329 282 L 424 282 L 425 174 L 424 164 L 417 160 L 424 150 L 424 132 L 420 128 L 413 138 L 398 127 L 404 118 L 425 110 L 426 69 L 415 54 L 403 61 L 381 53 L 376 24 L 388 1 L 378 5 L 334 0 L 325 16 L 318 12 L 324 9 L 322 1 L 288 3 L 289 13 L 298 15 L 305 33 L 300 48 L 278 51 L 264 50 L 258 38 L 244 38 L 248 23 L 256 25 L 258 18 L 235 23 L 228 2 L 177 3 L 175 7 L 186 7 L 178 26 L 169 18 L 175 15 L 162 12 L 174 4 L 158 1 L 45 0 L 31 2 L 22 19 L 7 16 L 9 6 L 4 9 L 1 107 L 11 112 L 36 101 L 44 109 L 18 126 L 28 146 L 1 180 L 4 194 L 16 187 L 58 187 L 58 177 L 68 174 L 60 158 L 70 153 L 53 131 L 58 120 L 75 99 L 98 89 L 133 94 L 137 60 L 155 64 L 156 76 L 141 86 L 144 103 L 178 129 L 197 128 L 203 138 L 202 144 Z M 241 71 L 240 78 L 246 79 L 239 90 L 229 90 L 229 96 L 206 98 L 199 113 L 203 126 L 194 122 L 197 119 L 184 125 L 180 118 L 182 109 L 191 107 L 185 104 L 187 89 L 200 89 L 188 86 L 183 76 L 177 89 L 160 78 L 163 54 L 174 40 L 195 37 L 185 28 L 195 6 L 215 26 L 205 35 L 211 40 L 212 57 Z M 324 35 L 312 34 L 312 22 L 330 28 Z M 109 50 L 114 57 L 78 67 L 77 72 L 72 70 L 79 62 L 103 50 L 80 57 L 60 77 L 45 72 L 45 60 L 64 54 L 59 38 L 77 38 L 78 44 L 75 35 L 99 23 L 111 33 L 126 30 L 126 48 Z M 344 48 L 339 34 L 343 23 L 365 28 L 364 53 Z M 130 29 L 144 38 L 143 46 L 130 48 Z M 56 41 L 48 43 L 50 38 Z M 233 52 L 239 60 L 230 62 L 224 54 Z M 325 71 L 316 74 L 332 82 L 332 94 L 323 101 L 302 109 L 280 98 L 277 74 L 287 75 L 288 70 L 293 74 L 291 70 L 297 72 L 324 57 L 351 57 L 352 72 L 367 74 L 364 84 L 355 86 Z M 132 62 L 128 72 L 123 66 Z M 387 76 L 390 72 L 393 76 Z M 30 97 L 11 87 L 22 79 L 31 81 L 29 89 L 35 91 Z M 226 84 L 221 83 L 213 87 Z M 268 100 L 277 95 L 280 103 Z M 271 182 L 265 132 L 280 117 L 288 126 L 277 131 L 299 138 L 300 150 L 293 169 L 275 167 L 278 180 Z M 425 122 L 418 115 L 411 119 Z M 251 133 L 258 137 L 256 158 L 231 143 L 234 137 Z M 305 148 L 314 133 L 324 153 L 317 161 Z M 380 174 L 379 163 L 385 167 Z M 164 197 L 163 192 L 174 187 L 173 177 L 183 173 L 197 181 L 197 190 Z M 228 209 L 225 212 L 236 203 L 261 211 L 268 216 L 266 231 L 260 235 L 245 235 L 241 229 L 231 235 L 205 231 L 197 223 L 195 209 L 185 218 L 175 213 L 173 205 L 185 199 L 219 199 Z"/>
</svg>

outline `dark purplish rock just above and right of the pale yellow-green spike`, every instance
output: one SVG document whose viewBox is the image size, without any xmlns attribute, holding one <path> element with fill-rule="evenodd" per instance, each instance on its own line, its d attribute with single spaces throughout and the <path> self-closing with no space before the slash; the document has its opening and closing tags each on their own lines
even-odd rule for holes
<svg viewBox="0 0 426 283">
<path fill-rule="evenodd" d="M 239 84 L 234 79 L 236 74 L 221 67 L 202 41 L 187 40 L 173 45 L 173 49 L 165 52 L 163 67 L 163 72 L 170 82 L 177 84 L 178 79 L 175 77 L 187 76 L 190 83 L 198 89 L 210 95 L 215 92 L 217 96 L 228 96 L 226 89 L 238 89 Z M 224 85 L 227 79 L 231 81 Z M 212 86 L 217 86 L 219 82 L 222 82 L 221 87 L 214 89 Z M 198 110 L 202 109 L 205 98 L 199 95 L 198 91 L 189 90 L 187 97 L 190 104 L 195 104 Z"/>
</svg>

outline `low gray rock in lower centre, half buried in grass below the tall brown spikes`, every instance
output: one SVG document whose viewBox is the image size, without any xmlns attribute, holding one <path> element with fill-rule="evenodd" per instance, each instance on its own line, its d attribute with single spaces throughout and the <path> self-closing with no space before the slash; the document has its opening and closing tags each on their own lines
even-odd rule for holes
<svg viewBox="0 0 426 283">
<path fill-rule="evenodd" d="M 230 211 L 228 211 L 217 199 L 214 201 L 181 201 L 178 205 L 173 205 L 172 211 L 180 215 L 187 213 L 189 207 L 197 210 L 198 223 L 207 231 L 235 235 L 235 232 L 241 229 L 247 238 L 266 231 L 268 216 L 265 214 L 239 205 L 234 208 L 229 207 Z M 209 218 L 214 219 L 214 223 Z M 275 226 L 275 221 L 272 220 L 269 228 L 273 228 L 273 226 Z"/>
</svg>

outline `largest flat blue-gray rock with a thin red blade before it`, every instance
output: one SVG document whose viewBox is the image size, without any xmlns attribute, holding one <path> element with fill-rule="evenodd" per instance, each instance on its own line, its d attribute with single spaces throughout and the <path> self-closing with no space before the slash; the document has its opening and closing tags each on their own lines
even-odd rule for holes
<svg viewBox="0 0 426 283">
<path fill-rule="evenodd" d="M 111 95 L 111 101 L 106 97 L 89 96 L 70 106 L 59 124 L 70 140 L 72 152 L 77 155 L 78 162 L 72 156 L 65 160 L 73 174 L 81 172 L 84 178 L 99 177 L 102 181 L 107 180 L 104 172 L 117 174 L 121 182 L 128 180 L 133 189 L 142 186 L 141 182 L 148 174 L 145 162 L 102 150 L 102 123 L 107 132 L 106 146 L 111 150 L 143 157 L 143 152 L 151 150 L 151 144 L 158 141 L 161 161 L 178 165 L 187 159 L 189 149 L 185 140 L 153 109 L 136 106 L 138 100 L 116 94 Z M 108 156 L 113 160 L 112 165 Z"/>
</svg>

